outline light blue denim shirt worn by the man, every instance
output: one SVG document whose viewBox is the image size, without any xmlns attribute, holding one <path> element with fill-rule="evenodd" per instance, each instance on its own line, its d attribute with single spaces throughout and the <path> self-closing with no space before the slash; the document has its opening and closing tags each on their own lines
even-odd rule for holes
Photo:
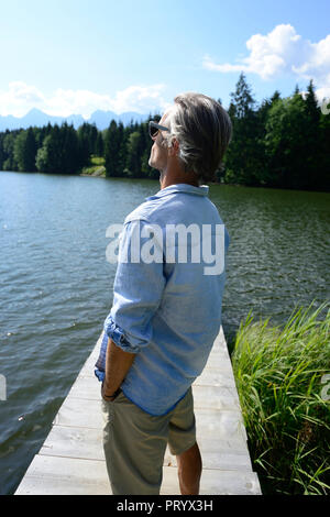
<svg viewBox="0 0 330 517">
<path fill-rule="evenodd" d="M 186 395 L 201 374 L 221 326 L 230 238 L 208 193 L 207 185 L 170 185 L 147 197 L 123 224 L 113 302 L 105 321 L 95 373 L 100 381 L 105 376 L 108 338 L 123 351 L 136 354 L 121 389 L 131 402 L 154 416 L 165 415 Z M 217 251 L 223 255 L 221 272 L 206 274 L 210 261 L 204 256 L 198 262 L 178 260 L 180 244 L 177 242 L 175 258 L 168 260 L 167 226 L 179 223 L 186 228 L 193 223 L 195 228 L 198 226 L 200 240 L 204 226 L 212 238 L 216 227 L 222 228 L 224 237 L 219 240 L 221 250 Z M 154 240 L 162 260 L 121 261 L 124 251 L 130 257 L 138 232 L 143 235 L 143 229 L 155 227 L 162 230 Z M 141 249 L 146 241 L 147 238 L 141 237 Z M 186 241 L 188 255 L 196 244 L 193 241 L 193 238 Z"/>
</svg>

